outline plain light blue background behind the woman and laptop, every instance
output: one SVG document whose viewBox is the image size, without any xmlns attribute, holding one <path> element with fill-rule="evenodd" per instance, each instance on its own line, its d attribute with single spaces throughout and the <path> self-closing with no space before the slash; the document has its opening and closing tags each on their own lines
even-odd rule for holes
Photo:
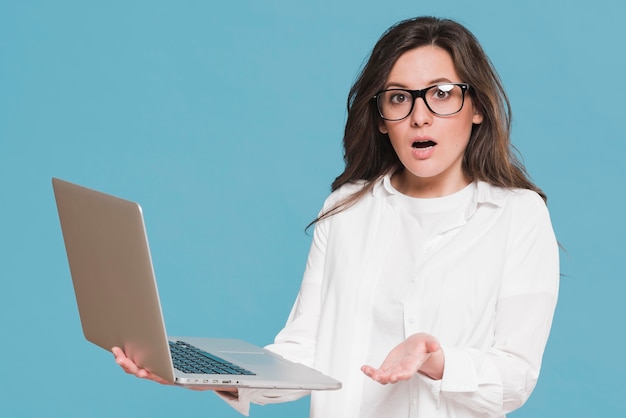
<svg viewBox="0 0 626 418">
<path fill-rule="evenodd" d="M 0 416 L 239 416 L 83 339 L 50 178 L 142 203 L 171 334 L 269 343 L 342 168 L 348 89 L 381 33 L 422 14 L 481 40 L 566 249 L 543 374 L 511 416 L 625 416 L 617 3 L 0 0 Z"/>
</svg>

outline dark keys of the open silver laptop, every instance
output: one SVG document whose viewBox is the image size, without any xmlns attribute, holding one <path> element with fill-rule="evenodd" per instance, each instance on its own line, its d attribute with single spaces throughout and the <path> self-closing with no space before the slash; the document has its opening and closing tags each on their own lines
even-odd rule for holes
<svg viewBox="0 0 626 418">
<path fill-rule="evenodd" d="M 255 374 L 184 341 L 170 341 L 170 352 L 174 367 L 184 373 L 246 376 Z"/>
</svg>

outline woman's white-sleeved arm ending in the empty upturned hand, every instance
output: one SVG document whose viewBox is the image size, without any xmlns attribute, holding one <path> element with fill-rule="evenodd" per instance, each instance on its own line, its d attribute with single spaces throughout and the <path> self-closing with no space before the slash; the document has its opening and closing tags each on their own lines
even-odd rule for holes
<svg viewBox="0 0 626 418">
<path fill-rule="evenodd" d="M 379 369 L 364 366 L 364 373 L 383 384 L 418 373 L 437 403 L 490 415 L 503 415 L 526 401 L 539 374 L 556 304 L 558 247 L 545 204 L 527 196 L 514 203 L 504 225 L 506 248 L 503 244 L 501 251 L 493 251 L 504 261 L 489 341 L 481 347 L 439 345 L 431 335 L 411 335 Z"/>
</svg>

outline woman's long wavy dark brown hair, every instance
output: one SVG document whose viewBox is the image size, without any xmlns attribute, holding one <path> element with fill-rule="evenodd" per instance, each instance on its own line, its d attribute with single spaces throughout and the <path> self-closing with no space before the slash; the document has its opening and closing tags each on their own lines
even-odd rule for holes
<svg viewBox="0 0 626 418">
<path fill-rule="evenodd" d="M 322 213 L 315 222 L 358 201 L 381 176 L 402 164 L 386 135 L 379 131 L 380 115 L 373 101 L 384 89 L 397 59 L 407 51 L 433 45 L 452 57 L 457 74 L 471 88 L 469 94 L 483 115 L 474 125 L 463 157 L 463 171 L 472 180 L 495 186 L 524 188 L 546 195 L 529 179 L 511 144 L 511 105 L 500 77 L 476 37 L 461 24 L 436 17 L 417 17 L 390 27 L 378 40 L 348 94 L 348 118 L 343 137 L 345 169 L 332 191 L 346 183 L 364 181 L 356 193 Z"/>
</svg>

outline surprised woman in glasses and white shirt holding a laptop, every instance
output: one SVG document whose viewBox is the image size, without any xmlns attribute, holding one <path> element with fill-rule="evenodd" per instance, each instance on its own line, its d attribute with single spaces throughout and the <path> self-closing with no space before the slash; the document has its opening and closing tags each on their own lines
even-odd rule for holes
<svg viewBox="0 0 626 418">
<path fill-rule="evenodd" d="M 378 41 L 349 94 L 345 171 L 268 347 L 343 382 L 311 394 L 312 417 L 502 417 L 528 399 L 558 246 L 509 131 L 504 89 L 466 28 L 420 17 Z M 305 394 L 221 396 L 247 414 Z"/>
</svg>

